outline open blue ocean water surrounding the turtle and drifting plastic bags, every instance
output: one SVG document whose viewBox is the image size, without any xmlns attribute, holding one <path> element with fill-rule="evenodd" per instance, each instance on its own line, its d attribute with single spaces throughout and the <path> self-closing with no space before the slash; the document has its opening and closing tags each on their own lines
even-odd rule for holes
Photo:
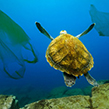
<svg viewBox="0 0 109 109">
<path fill-rule="evenodd" d="M 21 79 L 8 78 L 1 73 L 0 89 L 33 86 L 40 95 L 42 92 L 49 93 L 53 88 L 65 86 L 62 72 L 52 68 L 46 61 L 45 52 L 51 41 L 39 32 L 35 22 L 40 22 L 54 38 L 61 30 L 76 36 L 92 24 L 89 14 L 91 4 L 99 11 L 109 13 L 108 0 L 0 0 L 0 10 L 23 28 L 38 56 L 37 63 L 25 63 L 26 72 Z M 99 36 L 93 28 L 80 40 L 94 58 L 94 67 L 89 73 L 97 81 L 109 79 L 109 36 Z M 82 76 L 77 78 L 72 89 L 88 85 Z"/>
</svg>

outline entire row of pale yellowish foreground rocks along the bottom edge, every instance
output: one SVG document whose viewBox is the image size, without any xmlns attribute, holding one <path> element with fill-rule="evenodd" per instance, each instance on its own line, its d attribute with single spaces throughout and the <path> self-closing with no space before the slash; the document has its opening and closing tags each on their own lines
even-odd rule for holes
<svg viewBox="0 0 109 109">
<path fill-rule="evenodd" d="M 93 87 L 90 95 L 50 97 L 50 99 L 46 98 L 27 104 L 22 108 L 18 104 L 15 96 L 0 95 L 0 109 L 108 109 L 109 83 Z"/>
</svg>

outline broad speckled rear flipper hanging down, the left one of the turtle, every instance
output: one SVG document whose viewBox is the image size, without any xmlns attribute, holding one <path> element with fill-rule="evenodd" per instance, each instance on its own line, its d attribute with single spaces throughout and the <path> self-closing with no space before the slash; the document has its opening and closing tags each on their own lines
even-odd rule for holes
<svg viewBox="0 0 109 109">
<path fill-rule="evenodd" d="M 75 84 L 76 77 L 63 72 L 64 82 L 67 87 L 72 87 Z"/>
</svg>

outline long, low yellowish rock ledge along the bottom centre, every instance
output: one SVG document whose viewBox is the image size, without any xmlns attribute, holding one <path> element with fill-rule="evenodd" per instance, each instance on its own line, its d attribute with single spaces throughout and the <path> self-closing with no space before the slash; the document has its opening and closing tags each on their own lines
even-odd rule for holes
<svg viewBox="0 0 109 109">
<path fill-rule="evenodd" d="M 41 100 L 22 109 L 90 109 L 89 96 L 71 96 L 58 99 Z"/>
</svg>

